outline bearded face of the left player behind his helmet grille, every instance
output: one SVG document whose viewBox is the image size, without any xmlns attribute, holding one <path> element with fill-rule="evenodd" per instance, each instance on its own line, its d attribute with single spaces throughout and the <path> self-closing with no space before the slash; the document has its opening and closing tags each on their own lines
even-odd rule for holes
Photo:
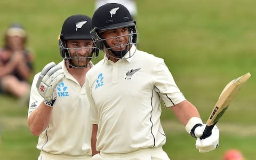
<svg viewBox="0 0 256 160">
<path fill-rule="evenodd" d="M 86 67 L 87 62 L 90 61 L 93 51 L 92 40 L 69 40 L 67 41 L 67 48 L 70 60 L 76 67 Z"/>
</svg>

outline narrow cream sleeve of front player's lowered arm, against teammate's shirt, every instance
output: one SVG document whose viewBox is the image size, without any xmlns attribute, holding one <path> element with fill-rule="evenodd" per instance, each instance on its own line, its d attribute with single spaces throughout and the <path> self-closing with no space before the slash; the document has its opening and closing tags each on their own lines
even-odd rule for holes
<svg viewBox="0 0 256 160">
<path fill-rule="evenodd" d="M 90 103 L 91 123 L 98 124 L 98 109 L 93 100 L 92 92 L 91 92 L 92 86 L 90 85 L 89 79 L 87 79 L 87 77 L 85 78 L 85 90 L 86 90 L 87 99 Z"/>
</svg>

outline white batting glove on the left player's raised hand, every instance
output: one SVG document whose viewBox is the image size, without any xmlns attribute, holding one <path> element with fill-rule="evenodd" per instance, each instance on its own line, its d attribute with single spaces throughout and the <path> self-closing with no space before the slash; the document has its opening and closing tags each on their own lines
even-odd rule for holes
<svg viewBox="0 0 256 160">
<path fill-rule="evenodd" d="M 40 95 L 47 101 L 55 101 L 57 98 L 56 87 L 62 81 L 64 71 L 61 65 L 54 62 L 48 63 L 39 75 L 36 87 Z"/>
</svg>

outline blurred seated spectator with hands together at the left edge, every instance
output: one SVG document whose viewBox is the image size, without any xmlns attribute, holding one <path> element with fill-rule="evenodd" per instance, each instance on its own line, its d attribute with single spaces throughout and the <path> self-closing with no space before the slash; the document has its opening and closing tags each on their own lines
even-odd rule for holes
<svg viewBox="0 0 256 160">
<path fill-rule="evenodd" d="M 0 49 L 0 93 L 8 93 L 23 99 L 28 97 L 28 79 L 32 72 L 31 53 L 26 49 L 26 31 L 19 25 L 11 25 L 4 33 Z"/>
</svg>

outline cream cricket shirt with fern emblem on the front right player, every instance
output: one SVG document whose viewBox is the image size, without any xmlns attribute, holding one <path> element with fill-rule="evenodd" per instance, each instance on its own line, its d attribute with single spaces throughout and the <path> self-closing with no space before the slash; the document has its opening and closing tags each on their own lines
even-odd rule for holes
<svg viewBox="0 0 256 160">
<path fill-rule="evenodd" d="M 109 154 L 163 146 L 160 101 L 171 107 L 185 100 L 164 60 L 139 50 L 116 63 L 105 55 L 85 85 L 91 122 L 98 124 L 97 149 Z"/>
</svg>

